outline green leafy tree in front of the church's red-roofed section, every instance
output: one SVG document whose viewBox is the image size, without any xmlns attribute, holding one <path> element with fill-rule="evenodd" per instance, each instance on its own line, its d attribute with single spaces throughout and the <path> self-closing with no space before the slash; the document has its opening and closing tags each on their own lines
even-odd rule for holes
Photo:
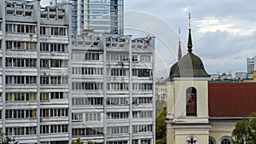
<svg viewBox="0 0 256 144">
<path fill-rule="evenodd" d="M 256 144 L 256 114 L 243 118 L 232 131 L 232 144 Z"/>
</svg>

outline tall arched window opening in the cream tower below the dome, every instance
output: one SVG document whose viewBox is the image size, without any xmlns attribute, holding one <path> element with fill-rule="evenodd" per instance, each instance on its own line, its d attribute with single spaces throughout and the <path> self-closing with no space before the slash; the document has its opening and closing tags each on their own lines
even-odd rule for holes
<svg viewBox="0 0 256 144">
<path fill-rule="evenodd" d="M 186 101 L 187 116 L 196 116 L 196 89 L 194 87 L 189 87 L 186 90 Z"/>
</svg>

